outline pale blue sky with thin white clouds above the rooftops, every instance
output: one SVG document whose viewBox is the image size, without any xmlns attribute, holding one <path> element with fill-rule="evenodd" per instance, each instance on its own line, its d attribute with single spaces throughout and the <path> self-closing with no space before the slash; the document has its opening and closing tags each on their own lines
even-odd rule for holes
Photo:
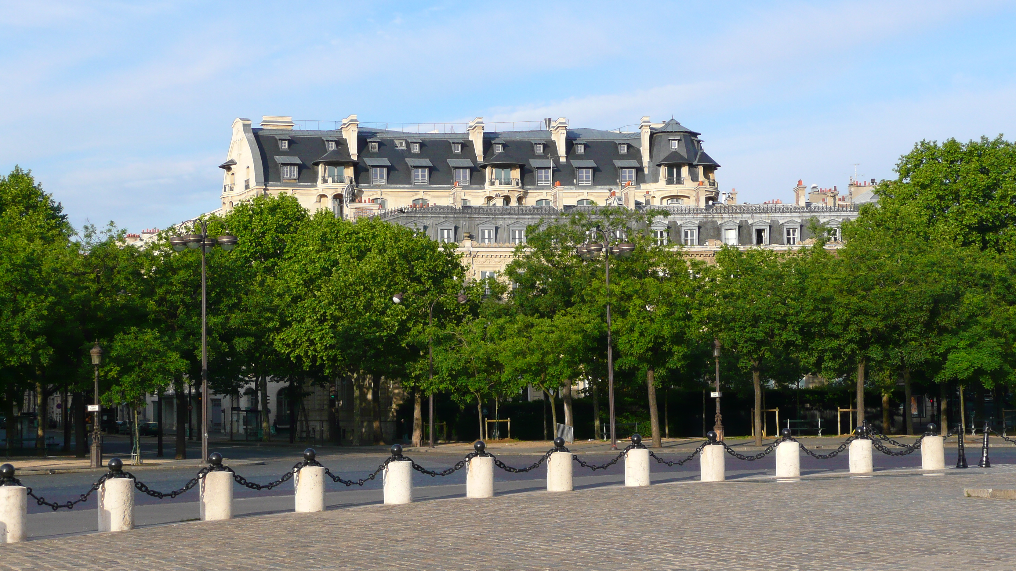
<svg viewBox="0 0 1016 571">
<path fill-rule="evenodd" d="M 0 170 L 76 226 L 218 206 L 230 126 L 672 115 L 739 201 L 1016 131 L 1012 2 L 0 2 Z"/>
</svg>

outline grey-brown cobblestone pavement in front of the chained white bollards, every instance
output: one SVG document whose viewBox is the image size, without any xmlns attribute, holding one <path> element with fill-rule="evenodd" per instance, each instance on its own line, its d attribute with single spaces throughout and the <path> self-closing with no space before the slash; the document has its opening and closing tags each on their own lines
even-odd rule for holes
<svg viewBox="0 0 1016 571">
<path fill-rule="evenodd" d="M 1016 465 L 675 483 L 188 522 L 0 546 L 0 570 L 1016 568 Z"/>
</svg>

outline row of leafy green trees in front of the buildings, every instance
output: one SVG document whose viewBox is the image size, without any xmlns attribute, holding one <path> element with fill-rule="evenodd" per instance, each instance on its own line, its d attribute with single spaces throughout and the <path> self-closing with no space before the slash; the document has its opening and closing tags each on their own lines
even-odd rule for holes
<svg viewBox="0 0 1016 571">
<path fill-rule="evenodd" d="M 264 402 L 268 378 L 299 387 L 364 376 L 377 425 L 381 379 L 398 379 L 415 395 L 419 442 L 422 394 L 482 408 L 531 385 L 560 394 L 571 424 L 572 386 L 584 381 L 594 407 L 602 394 L 608 301 L 618 382 L 644 387 L 655 445 L 655 388 L 707 382 L 714 339 L 727 390 L 755 394 L 757 438 L 763 388 L 807 374 L 853 379 L 860 409 L 866 386 L 888 395 L 901 381 L 908 402 L 913 380 L 1009 385 L 1014 166 L 1001 138 L 922 142 L 879 186 L 879 205 L 844 224 L 844 246 L 827 248 L 816 227 L 820 238 L 790 253 L 724 247 L 708 264 L 644 232 L 662 212 L 602 208 L 547 220 L 529 229 L 505 275 L 486 282 L 467 278 L 454 245 L 379 219 L 309 213 L 290 196 L 258 197 L 210 220 L 212 234 L 228 228 L 240 245 L 208 254 L 209 388 L 255 382 Z M 104 401 L 136 405 L 171 386 L 182 395 L 200 379 L 198 252 L 174 253 L 165 240 L 123 247 L 112 226 L 74 233 L 20 170 L 0 191 L 8 418 L 25 390 L 83 402 L 96 340 L 112 362 Z M 609 295 L 601 260 L 575 250 L 597 227 L 635 244 L 612 262 Z M 397 292 L 401 304 L 391 301 Z M 177 438 L 180 455 L 182 431 Z"/>
</svg>

